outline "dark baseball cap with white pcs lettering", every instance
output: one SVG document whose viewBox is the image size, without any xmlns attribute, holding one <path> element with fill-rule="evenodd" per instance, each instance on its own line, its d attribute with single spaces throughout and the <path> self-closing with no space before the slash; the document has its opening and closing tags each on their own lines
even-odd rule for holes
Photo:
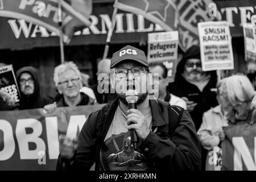
<svg viewBox="0 0 256 182">
<path fill-rule="evenodd" d="M 118 63 L 121 63 L 123 60 L 134 60 L 142 65 L 148 67 L 147 57 L 145 53 L 138 48 L 133 46 L 125 46 L 119 51 L 115 52 L 111 59 L 110 68 L 113 68 Z"/>
</svg>

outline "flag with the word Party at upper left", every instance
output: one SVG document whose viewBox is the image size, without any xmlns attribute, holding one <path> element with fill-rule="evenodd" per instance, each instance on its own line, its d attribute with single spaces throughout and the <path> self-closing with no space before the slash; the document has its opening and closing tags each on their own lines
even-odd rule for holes
<svg viewBox="0 0 256 182">
<path fill-rule="evenodd" d="M 38 24 L 60 35 L 58 22 L 58 0 L 0 0 L 0 16 L 24 19 Z M 92 0 L 63 0 L 62 27 L 63 40 L 69 43 L 77 28 L 90 26 Z M 40 14 L 40 12 L 43 12 Z"/>
</svg>

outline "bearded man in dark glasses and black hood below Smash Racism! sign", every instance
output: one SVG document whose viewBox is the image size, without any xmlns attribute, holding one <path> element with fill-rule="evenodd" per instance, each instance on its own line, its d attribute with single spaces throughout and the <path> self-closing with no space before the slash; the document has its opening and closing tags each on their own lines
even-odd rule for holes
<svg viewBox="0 0 256 182">
<path fill-rule="evenodd" d="M 188 48 L 177 65 L 175 81 L 170 83 L 167 89 L 171 94 L 186 101 L 196 130 L 199 130 L 203 122 L 204 112 L 218 105 L 216 85 L 216 71 L 202 70 L 200 47 Z M 202 169 L 205 168 L 206 157 L 207 150 L 202 147 Z"/>
</svg>

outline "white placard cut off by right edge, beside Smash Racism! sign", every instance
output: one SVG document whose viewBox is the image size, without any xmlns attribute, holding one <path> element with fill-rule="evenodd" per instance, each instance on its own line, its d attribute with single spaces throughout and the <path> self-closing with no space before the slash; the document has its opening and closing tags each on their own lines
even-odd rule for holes
<svg viewBox="0 0 256 182">
<path fill-rule="evenodd" d="M 256 48 L 255 48 L 255 28 L 253 24 L 243 24 L 243 40 L 245 42 L 245 60 L 256 60 Z"/>
</svg>

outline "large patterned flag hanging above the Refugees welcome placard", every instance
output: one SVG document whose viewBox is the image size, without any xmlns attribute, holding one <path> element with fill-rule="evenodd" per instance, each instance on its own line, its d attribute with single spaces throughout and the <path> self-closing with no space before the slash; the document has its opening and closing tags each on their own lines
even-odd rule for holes
<svg viewBox="0 0 256 182">
<path fill-rule="evenodd" d="M 209 15 L 210 3 L 212 0 L 118 0 L 114 7 L 142 15 L 165 31 L 178 30 L 179 46 L 186 51 L 193 44 L 199 44 L 197 23 L 218 19 Z"/>
</svg>

